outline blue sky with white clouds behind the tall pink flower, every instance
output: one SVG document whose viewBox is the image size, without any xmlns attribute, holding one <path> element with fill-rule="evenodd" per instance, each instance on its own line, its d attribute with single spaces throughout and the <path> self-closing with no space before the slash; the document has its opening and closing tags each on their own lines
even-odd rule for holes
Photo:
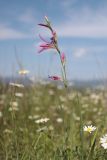
<svg viewBox="0 0 107 160">
<path fill-rule="evenodd" d="M 0 0 L 0 76 L 16 75 L 18 62 L 29 76 L 60 75 L 55 50 L 38 53 L 38 26 L 44 16 L 58 35 L 66 55 L 68 79 L 107 78 L 107 0 Z"/>
</svg>

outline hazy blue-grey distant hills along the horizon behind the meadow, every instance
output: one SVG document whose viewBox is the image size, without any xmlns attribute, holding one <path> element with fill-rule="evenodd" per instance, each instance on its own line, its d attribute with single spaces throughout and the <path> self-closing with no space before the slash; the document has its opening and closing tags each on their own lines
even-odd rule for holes
<svg viewBox="0 0 107 160">
<path fill-rule="evenodd" d="M 0 82 L 1 83 L 5 83 L 5 84 L 9 84 L 10 82 L 16 82 L 16 83 L 23 83 L 24 85 L 30 85 L 33 82 L 38 82 L 38 80 L 30 80 L 29 77 L 6 77 L 6 78 L 1 78 L 0 77 Z M 50 82 L 49 79 L 43 79 L 40 80 L 40 83 L 47 83 Z M 51 83 L 55 83 L 57 85 L 63 85 L 62 82 L 58 82 L 58 81 L 51 81 Z M 74 86 L 74 87 L 98 87 L 98 88 L 104 88 L 105 86 L 107 86 L 107 80 L 71 80 L 69 81 L 69 85 L 70 86 Z"/>
</svg>

